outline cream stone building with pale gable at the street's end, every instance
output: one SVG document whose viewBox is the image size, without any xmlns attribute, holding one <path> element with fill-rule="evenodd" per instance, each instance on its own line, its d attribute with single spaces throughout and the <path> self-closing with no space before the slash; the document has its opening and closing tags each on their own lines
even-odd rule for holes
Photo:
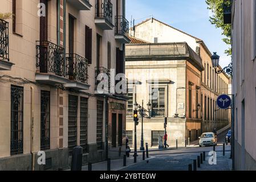
<svg viewBox="0 0 256 182">
<path fill-rule="evenodd" d="M 230 78 L 224 73 L 220 75 L 215 73 L 212 67 L 212 53 L 203 40 L 155 18 L 135 25 L 130 29 L 129 35 L 131 43 L 127 44 L 125 54 L 126 75 L 128 79 L 129 77 L 133 79 L 133 81 L 128 81 L 130 88 L 130 100 L 127 106 L 129 144 L 132 145 L 132 138 L 134 138 L 134 123 L 129 118 L 134 109 L 132 103 L 137 101 L 138 104 L 141 104 L 141 101 L 144 100 L 145 103 L 150 101 L 153 105 L 149 91 L 152 85 L 150 80 L 155 77 L 159 80 L 164 79 L 163 83 L 159 81 L 159 85 L 167 85 L 166 88 L 169 88 L 168 92 L 165 90 L 164 93 L 166 100 L 161 101 L 165 105 L 165 112 L 157 117 L 146 119 L 144 122 L 144 140 L 151 143 L 149 147 L 158 145 L 159 136 L 164 134 L 164 117 L 168 117 L 167 134 L 168 142 L 171 145 L 176 144 L 176 139 L 179 144 L 183 145 L 185 139 L 193 141 L 198 139 L 203 132 L 212 132 L 214 128 L 218 130 L 230 124 L 230 111 L 218 110 L 216 106 L 217 97 L 222 93 L 227 93 Z M 182 55 L 181 48 L 178 46 L 183 48 L 182 51 L 189 50 L 190 57 L 180 58 L 184 61 L 183 63 L 178 59 L 179 55 Z M 152 48 L 156 49 L 153 55 L 154 49 L 152 50 Z M 169 62 L 168 56 L 172 57 Z M 197 61 L 193 64 L 200 64 L 200 67 L 190 65 L 192 63 L 188 59 L 191 57 L 197 57 L 194 58 Z M 169 80 L 169 83 L 166 80 Z M 136 85 L 133 87 L 136 88 L 136 91 L 139 90 L 135 92 L 133 89 L 133 93 L 136 94 L 131 94 L 131 85 Z M 143 93 L 140 93 L 141 91 Z M 131 96 L 133 96 L 132 99 Z M 154 113 L 153 110 L 152 108 L 151 116 Z M 178 127 L 174 127 L 174 124 L 180 124 L 182 127 L 178 129 Z M 147 127 L 147 125 L 149 126 Z M 140 141 L 140 134 L 141 123 L 137 129 L 138 141 Z M 155 141 L 154 144 L 152 141 Z M 139 146 L 140 142 L 137 144 Z"/>
</svg>

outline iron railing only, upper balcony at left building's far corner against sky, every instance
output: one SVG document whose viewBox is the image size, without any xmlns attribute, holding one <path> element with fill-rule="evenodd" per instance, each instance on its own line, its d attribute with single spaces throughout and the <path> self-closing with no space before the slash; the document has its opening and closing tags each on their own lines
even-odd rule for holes
<svg viewBox="0 0 256 182">
<path fill-rule="evenodd" d="M 128 35 L 129 33 L 129 22 L 124 16 L 116 16 L 115 22 L 115 34 L 116 35 Z"/>
</svg>

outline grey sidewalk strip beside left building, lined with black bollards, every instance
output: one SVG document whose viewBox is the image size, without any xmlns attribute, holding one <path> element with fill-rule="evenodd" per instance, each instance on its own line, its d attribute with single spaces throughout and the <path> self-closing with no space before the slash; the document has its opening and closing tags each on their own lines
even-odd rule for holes
<svg viewBox="0 0 256 182">
<path fill-rule="evenodd" d="M 145 161 L 151 160 L 153 158 L 155 157 L 153 156 L 149 156 L 149 158 L 145 157 Z M 142 155 L 138 154 L 137 163 L 141 163 L 141 162 L 143 162 Z M 134 159 L 132 155 L 130 155 L 130 157 L 127 158 L 126 164 L 127 164 L 126 167 L 131 167 L 136 164 L 134 163 Z M 119 171 L 123 168 L 125 168 L 123 166 L 123 159 L 111 160 L 111 171 Z M 88 171 L 88 166 L 83 166 L 82 171 Z M 92 171 L 107 171 L 107 161 L 92 164 Z"/>
</svg>

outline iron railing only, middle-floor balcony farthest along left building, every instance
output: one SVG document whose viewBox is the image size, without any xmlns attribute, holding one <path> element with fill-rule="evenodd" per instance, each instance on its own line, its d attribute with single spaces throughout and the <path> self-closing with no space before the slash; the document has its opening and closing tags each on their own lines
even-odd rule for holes
<svg viewBox="0 0 256 182">
<path fill-rule="evenodd" d="M 101 90 L 105 90 L 110 92 L 110 70 L 104 67 L 96 67 L 95 68 L 95 88 L 97 90 L 97 86 L 101 85 Z"/>
</svg>

